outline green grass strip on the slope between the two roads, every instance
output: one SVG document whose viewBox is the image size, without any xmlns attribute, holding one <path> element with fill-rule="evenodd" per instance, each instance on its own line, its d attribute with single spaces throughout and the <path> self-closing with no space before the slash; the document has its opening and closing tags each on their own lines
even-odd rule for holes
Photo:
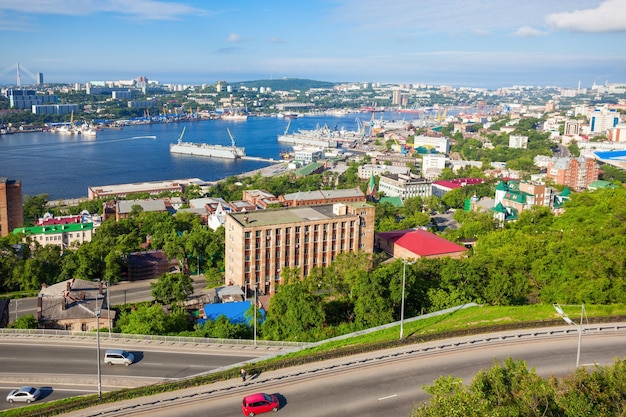
<svg viewBox="0 0 626 417">
<path fill-rule="evenodd" d="M 561 306 L 563 311 L 575 322 L 580 321 L 581 306 Z M 585 306 L 583 324 L 587 322 L 626 321 L 626 305 Z M 479 334 L 511 328 L 532 328 L 540 326 L 565 325 L 552 305 L 530 305 L 519 307 L 471 307 L 457 310 L 443 316 L 430 317 L 412 322 L 405 321 L 406 338 L 400 341 L 399 327 L 337 340 L 319 346 L 303 349 L 277 358 L 257 362 L 255 372 L 267 372 L 273 369 L 315 362 L 333 357 L 348 356 L 354 353 L 373 351 L 401 344 L 419 343 L 423 340 L 447 338 L 468 334 Z M 219 380 L 237 378 L 238 369 L 229 369 L 216 374 L 209 374 L 193 380 L 168 382 L 147 387 L 124 389 L 107 392 L 98 402 L 93 395 L 63 399 L 46 404 L 7 410 L 3 416 L 41 416 L 67 413 L 72 410 L 91 407 L 98 403 L 112 403 L 131 398 L 171 392 L 191 386 L 210 384 Z"/>
</svg>

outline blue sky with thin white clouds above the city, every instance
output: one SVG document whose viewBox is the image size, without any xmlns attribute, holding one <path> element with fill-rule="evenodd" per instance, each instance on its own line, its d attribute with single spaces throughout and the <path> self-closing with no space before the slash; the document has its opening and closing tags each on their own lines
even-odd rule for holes
<svg viewBox="0 0 626 417">
<path fill-rule="evenodd" d="M 626 0 L 0 0 L 0 84 L 626 82 Z"/>
</svg>

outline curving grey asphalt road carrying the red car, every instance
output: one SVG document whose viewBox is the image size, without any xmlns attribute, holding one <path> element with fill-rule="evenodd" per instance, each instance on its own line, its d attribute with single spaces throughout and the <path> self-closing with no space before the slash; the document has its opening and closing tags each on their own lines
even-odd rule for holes
<svg viewBox="0 0 626 417">
<path fill-rule="evenodd" d="M 590 336 L 584 338 L 581 365 L 593 366 L 613 363 L 613 358 L 626 353 L 625 336 Z M 241 415 L 241 398 L 254 392 L 277 394 L 281 399 L 279 417 L 408 417 L 416 402 L 426 401 L 428 395 L 423 384 L 430 385 L 442 375 L 460 377 L 471 381 L 481 369 L 493 365 L 494 360 L 506 357 L 526 361 L 537 373 L 564 375 L 572 372 L 576 364 L 576 337 L 523 343 L 507 343 L 489 347 L 476 347 L 448 353 L 432 353 L 418 357 L 400 356 L 369 364 L 355 362 L 319 375 L 292 371 L 287 378 L 272 379 L 272 375 L 259 375 L 250 384 L 238 384 L 222 393 L 209 394 L 197 399 L 145 406 L 119 416 L 227 417 Z M 346 359 L 344 359 L 346 360 Z M 209 387 L 206 388 L 209 391 Z M 95 414 L 82 414 L 95 415 Z"/>
</svg>

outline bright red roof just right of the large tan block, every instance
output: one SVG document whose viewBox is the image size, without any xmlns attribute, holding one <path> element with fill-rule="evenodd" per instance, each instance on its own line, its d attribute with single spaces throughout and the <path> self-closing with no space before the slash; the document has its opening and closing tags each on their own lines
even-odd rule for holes
<svg viewBox="0 0 626 417">
<path fill-rule="evenodd" d="M 467 250 L 465 246 L 457 245 L 456 243 L 450 242 L 423 229 L 382 232 L 378 233 L 378 236 L 418 256 L 445 255 L 447 253 L 457 253 Z"/>
</svg>

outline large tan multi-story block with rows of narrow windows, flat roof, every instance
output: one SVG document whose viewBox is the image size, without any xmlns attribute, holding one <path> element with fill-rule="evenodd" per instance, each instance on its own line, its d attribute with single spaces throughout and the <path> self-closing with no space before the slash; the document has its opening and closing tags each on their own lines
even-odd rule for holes
<svg viewBox="0 0 626 417">
<path fill-rule="evenodd" d="M 302 278 L 340 253 L 371 253 L 374 212 L 374 206 L 355 202 L 230 213 L 225 283 L 269 295 L 283 282 L 283 268 L 297 268 Z"/>
</svg>

